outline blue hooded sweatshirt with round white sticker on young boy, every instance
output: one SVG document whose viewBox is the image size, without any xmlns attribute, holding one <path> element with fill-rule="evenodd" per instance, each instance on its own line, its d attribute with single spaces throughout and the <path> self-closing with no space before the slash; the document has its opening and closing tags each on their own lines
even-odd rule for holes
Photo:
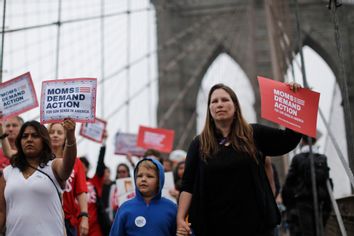
<svg viewBox="0 0 354 236">
<path fill-rule="evenodd" d="M 133 236 L 133 235 L 153 235 L 170 236 L 176 235 L 176 215 L 177 206 L 172 201 L 161 197 L 162 187 L 165 182 L 163 166 L 159 161 L 145 158 L 143 160 L 152 161 L 158 169 L 159 191 L 157 195 L 147 204 L 140 191 L 135 187 L 136 196 L 124 202 L 115 215 L 110 236 Z M 135 167 L 134 181 L 136 186 Z"/>
</svg>

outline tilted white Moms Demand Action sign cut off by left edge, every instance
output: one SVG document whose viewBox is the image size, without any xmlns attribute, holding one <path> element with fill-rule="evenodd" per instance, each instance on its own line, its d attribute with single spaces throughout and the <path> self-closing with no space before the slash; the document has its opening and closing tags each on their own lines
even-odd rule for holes
<svg viewBox="0 0 354 236">
<path fill-rule="evenodd" d="M 38 106 L 36 91 L 29 72 L 2 83 L 0 96 L 4 119 Z"/>
</svg>

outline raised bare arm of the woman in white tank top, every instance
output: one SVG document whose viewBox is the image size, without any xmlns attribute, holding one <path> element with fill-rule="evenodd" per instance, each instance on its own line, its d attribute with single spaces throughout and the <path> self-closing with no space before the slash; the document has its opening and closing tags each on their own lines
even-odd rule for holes
<svg viewBox="0 0 354 236">
<path fill-rule="evenodd" d="M 70 177 L 74 168 L 77 155 L 76 138 L 75 138 L 75 121 L 70 118 L 65 118 L 63 127 L 66 131 L 66 141 L 64 147 L 63 158 L 57 158 L 53 163 L 53 170 L 59 180 L 65 181 Z"/>
</svg>

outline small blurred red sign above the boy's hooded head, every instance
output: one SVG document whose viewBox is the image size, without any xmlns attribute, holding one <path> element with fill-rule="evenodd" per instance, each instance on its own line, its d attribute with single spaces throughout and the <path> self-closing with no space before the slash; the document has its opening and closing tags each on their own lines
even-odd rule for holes
<svg viewBox="0 0 354 236">
<path fill-rule="evenodd" d="M 140 126 L 137 145 L 139 147 L 169 153 L 173 147 L 174 135 L 174 130 Z"/>
</svg>

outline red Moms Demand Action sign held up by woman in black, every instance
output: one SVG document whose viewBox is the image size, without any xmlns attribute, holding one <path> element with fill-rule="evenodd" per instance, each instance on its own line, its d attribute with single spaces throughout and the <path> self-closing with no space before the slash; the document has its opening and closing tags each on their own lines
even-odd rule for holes
<svg viewBox="0 0 354 236">
<path fill-rule="evenodd" d="M 316 137 L 319 93 L 305 88 L 295 93 L 285 83 L 260 76 L 258 83 L 264 119 Z"/>
</svg>

